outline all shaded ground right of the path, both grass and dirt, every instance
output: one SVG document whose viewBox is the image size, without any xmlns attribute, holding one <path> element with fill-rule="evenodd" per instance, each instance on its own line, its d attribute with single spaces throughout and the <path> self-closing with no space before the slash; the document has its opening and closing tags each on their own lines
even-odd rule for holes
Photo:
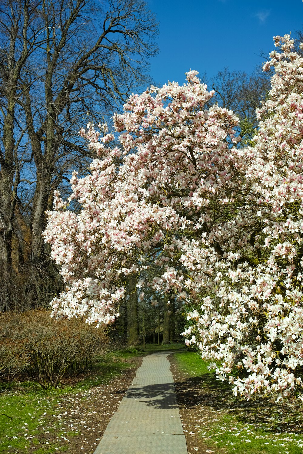
<svg viewBox="0 0 303 454">
<path fill-rule="evenodd" d="M 236 399 L 193 351 L 169 356 L 189 453 L 301 454 L 302 405 Z"/>
</svg>

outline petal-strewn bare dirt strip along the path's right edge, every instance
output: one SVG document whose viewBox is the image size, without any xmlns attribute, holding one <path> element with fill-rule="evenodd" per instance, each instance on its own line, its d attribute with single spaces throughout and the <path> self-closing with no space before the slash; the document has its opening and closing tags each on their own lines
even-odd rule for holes
<svg viewBox="0 0 303 454">
<path fill-rule="evenodd" d="M 216 411 L 208 407 L 209 396 L 201 387 L 201 380 L 191 378 L 189 374 L 180 370 L 174 355 L 169 356 L 169 362 L 174 375 L 177 402 L 189 454 L 222 453 L 223 451 L 219 449 L 216 451 L 209 449 L 199 436 L 201 430 L 209 429 L 216 420 Z"/>
</svg>

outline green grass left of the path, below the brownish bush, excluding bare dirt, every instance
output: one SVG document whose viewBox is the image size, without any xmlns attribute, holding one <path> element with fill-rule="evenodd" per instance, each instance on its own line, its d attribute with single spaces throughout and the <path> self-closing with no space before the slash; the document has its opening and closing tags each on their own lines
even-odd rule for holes
<svg viewBox="0 0 303 454">
<path fill-rule="evenodd" d="M 135 354 L 112 353 L 99 360 L 93 366 L 91 374 L 86 375 L 75 385 L 62 386 L 59 388 L 43 389 L 35 382 L 25 381 L 22 383 L 2 384 L 0 388 L 0 453 L 25 454 L 31 449 L 35 454 L 49 454 L 66 451 L 68 447 L 58 443 L 51 445 L 39 444 L 39 435 L 47 428 L 47 419 L 62 411 L 60 398 L 73 395 L 92 386 L 108 383 L 121 371 L 131 367 L 127 358 Z M 57 434 L 61 434 L 62 428 L 55 425 Z M 75 435 L 71 433 L 70 436 Z M 69 438 L 66 436 L 66 438 Z M 28 438 L 28 439 L 27 439 Z"/>
</svg>

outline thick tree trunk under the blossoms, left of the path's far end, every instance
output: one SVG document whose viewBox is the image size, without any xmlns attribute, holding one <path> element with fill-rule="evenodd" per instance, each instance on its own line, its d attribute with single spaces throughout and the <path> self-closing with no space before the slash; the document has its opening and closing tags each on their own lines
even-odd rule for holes
<svg viewBox="0 0 303 454">
<path fill-rule="evenodd" d="M 128 343 L 129 345 L 139 344 L 139 307 L 137 277 L 132 274 L 128 277 L 129 301 L 127 308 L 128 319 Z"/>
</svg>

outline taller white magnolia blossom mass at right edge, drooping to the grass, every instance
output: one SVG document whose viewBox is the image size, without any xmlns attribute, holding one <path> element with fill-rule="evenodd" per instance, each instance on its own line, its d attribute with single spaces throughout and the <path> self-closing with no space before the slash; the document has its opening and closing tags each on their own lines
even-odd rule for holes
<svg viewBox="0 0 303 454">
<path fill-rule="evenodd" d="M 246 212 L 256 228 L 216 263 L 218 285 L 189 314 L 184 335 L 235 395 L 280 400 L 303 386 L 303 59 L 289 35 L 274 39 L 280 52 L 264 66 L 274 68 L 272 89 L 257 111 L 254 146 L 243 150 L 249 191 L 226 232 L 233 236 Z"/>
</svg>

